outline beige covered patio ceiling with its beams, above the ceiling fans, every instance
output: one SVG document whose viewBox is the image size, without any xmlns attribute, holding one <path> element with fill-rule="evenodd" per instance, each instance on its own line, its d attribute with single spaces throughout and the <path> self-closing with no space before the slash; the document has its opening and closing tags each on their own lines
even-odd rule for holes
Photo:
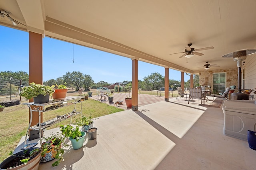
<svg viewBox="0 0 256 170">
<path fill-rule="evenodd" d="M 256 48 L 255 0 L 0 0 L 0 9 L 27 27 L 6 17 L 0 25 L 189 73 L 206 61 L 235 68 L 222 55 Z M 214 49 L 190 59 L 169 55 L 188 43 Z"/>
</svg>

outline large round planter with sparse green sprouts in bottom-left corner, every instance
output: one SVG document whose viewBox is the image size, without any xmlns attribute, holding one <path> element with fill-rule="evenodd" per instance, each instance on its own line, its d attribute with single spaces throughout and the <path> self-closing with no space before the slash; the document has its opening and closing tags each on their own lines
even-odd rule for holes
<svg viewBox="0 0 256 170">
<path fill-rule="evenodd" d="M 0 170 L 37 170 L 41 151 L 40 148 L 29 148 L 16 154 L 11 151 L 11 156 L 0 164 Z"/>
</svg>

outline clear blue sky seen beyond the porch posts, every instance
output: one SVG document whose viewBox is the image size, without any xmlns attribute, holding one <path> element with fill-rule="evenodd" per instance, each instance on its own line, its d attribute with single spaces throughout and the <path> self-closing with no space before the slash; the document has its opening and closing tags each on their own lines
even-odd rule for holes
<svg viewBox="0 0 256 170">
<path fill-rule="evenodd" d="M 0 71 L 28 72 L 28 32 L 0 25 Z M 74 47 L 74 54 L 73 54 Z M 73 63 L 74 57 L 74 63 Z M 138 79 L 158 72 L 164 76 L 164 67 L 139 61 Z M 96 49 L 74 45 L 45 37 L 43 39 L 43 81 L 56 79 L 66 72 L 89 74 L 95 83 L 110 84 L 132 80 L 132 60 Z M 169 70 L 169 79 L 180 80 L 181 72 Z M 184 75 L 185 81 L 190 77 Z"/>
</svg>

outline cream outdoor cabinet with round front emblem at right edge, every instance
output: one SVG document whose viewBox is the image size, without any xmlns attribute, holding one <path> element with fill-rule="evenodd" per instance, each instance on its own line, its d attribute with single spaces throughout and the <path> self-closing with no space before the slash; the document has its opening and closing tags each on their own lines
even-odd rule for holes
<svg viewBox="0 0 256 170">
<path fill-rule="evenodd" d="M 222 110 L 224 134 L 247 141 L 247 130 L 256 130 L 256 101 L 226 100 Z"/>
</svg>

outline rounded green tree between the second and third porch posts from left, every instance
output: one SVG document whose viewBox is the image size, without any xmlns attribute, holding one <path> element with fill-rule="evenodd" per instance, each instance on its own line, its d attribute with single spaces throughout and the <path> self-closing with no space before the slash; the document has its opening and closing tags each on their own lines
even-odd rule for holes
<svg viewBox="0 0 256 170">
<path fill-rule="evenodd" d="M 164 77 L 158 72 L 143 78 L 146 90 L 158 90 L 164 86 Z"/>
</svg>

